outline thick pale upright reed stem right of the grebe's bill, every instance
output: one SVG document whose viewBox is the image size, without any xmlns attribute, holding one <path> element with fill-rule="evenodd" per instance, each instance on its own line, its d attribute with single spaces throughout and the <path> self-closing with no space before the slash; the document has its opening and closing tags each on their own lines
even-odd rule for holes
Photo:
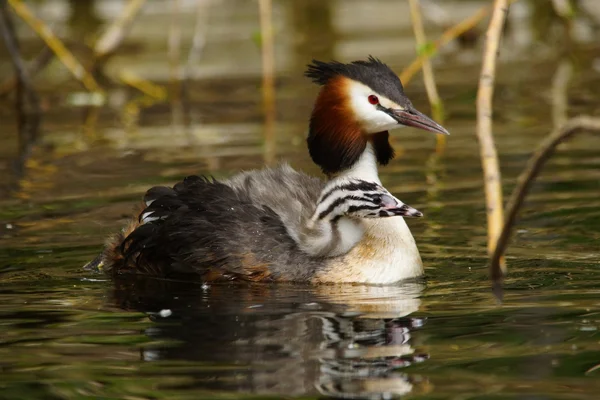
<svg viewBox="0 0 600 400">
<path fill-rule="evenodd" d="M 498 58 L 502 27 L 508 13 L 507 0 L 495 0 L 490 25 L 486 32 L 483 65 L 479 77 L 477 91 L 477 138 L 483 167 L 484 187 L 488 226 L 488 254 L 492 255 L 504 223 L 502 204 L 502 182 L 498 155 L 492 133 L 492 98 L 494 95 L 494 79 L 496 60 Z M 501 262 L 505 272 L 504 262 Z"/>
</svg>

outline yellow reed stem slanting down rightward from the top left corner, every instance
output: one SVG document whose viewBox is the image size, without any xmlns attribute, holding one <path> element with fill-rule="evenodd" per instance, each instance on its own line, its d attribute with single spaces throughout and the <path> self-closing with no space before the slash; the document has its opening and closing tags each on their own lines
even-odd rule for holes
<svg viewBox="0 0 600 400">
<path fill-rule="evenodd" d="M 65 47 L 48 25 L 41 19 L 37 18 L 31 10 L 25 5 L 22 0 L 8 0 L 8 3 L 13 8 L 15 13 L 27 23 L 46 43 L 50 49 L 56 54 L 56 57 L 63 63 L 71 74 L 80 81 L 85 88 L 91 92 L 101 92 L 102 89 L 96 83 L 94 77 L 86 71 L 81 63 L 73 56 L 73 54 Z"/>
</svg>

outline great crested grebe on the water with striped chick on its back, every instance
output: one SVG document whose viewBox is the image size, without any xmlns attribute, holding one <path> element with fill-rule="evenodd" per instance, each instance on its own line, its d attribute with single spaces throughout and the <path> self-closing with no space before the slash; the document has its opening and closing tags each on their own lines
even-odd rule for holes
<svg viewBox="0 0 600 400">
<path fill-rule="evenodd" d="M 389 129 L 448 132 L 415 110 L 376 58 L 313 61 L 305 75 L 322 86 L 307 143 L 326 182 L 283 165 L 151 188 L 139 217 L 92 263 L 113 275 L 206 281 L 389 284 L 422 275 L 410 230 L 394 218 L 422 214 L 381 186 L 377 165 L 394 157 Z"/>
</svg>

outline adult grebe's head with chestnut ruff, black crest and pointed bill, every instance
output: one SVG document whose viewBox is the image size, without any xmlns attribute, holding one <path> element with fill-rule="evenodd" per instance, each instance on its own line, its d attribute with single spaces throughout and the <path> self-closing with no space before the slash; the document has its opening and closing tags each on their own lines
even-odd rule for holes
<svg viewBox="0 0 600 400">
<path fill-rule="evenodd" d="M 412 126 L 448 134 L 413 107 L 398 76 L 372 56 L 349 64 L 313 60 L 305 75 L 322 86 L 310 119 L 308 148 L 328 175 L 352 167 L 368 143 L 377 162 L 387 164 L 394 157 L 390 129 Z"/>
</svg>

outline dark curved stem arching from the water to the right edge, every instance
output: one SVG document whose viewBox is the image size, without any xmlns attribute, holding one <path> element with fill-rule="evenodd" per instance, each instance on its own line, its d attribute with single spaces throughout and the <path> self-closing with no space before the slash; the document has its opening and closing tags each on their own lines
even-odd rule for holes
<svg viewBox="0 0 600 400">
<path fill-rule="evenodd" d="M 600 133 L 600 118 L 579 116 L 568 120 L 564 125 L 556 128 L 542 141 L 529 161 L 527 161 L 527 165 L 521 175 L 519 175 L 519 178 L 517 178 L 517 186 L 514 188 L 506 206 L 506 220 L 498 236 L 495 250 L 490 258 L 490 276 L 495 284 L 499 284 L 505 274 L 505 271 L 501 268 L 500 260 L 506 251 L 511 229 L 515 224 L 517 214 L 523 205 L 523 200 L 531 185 L 546 160 L 553 154 L 556 146 L 580 132 Z"/>
</svg>

